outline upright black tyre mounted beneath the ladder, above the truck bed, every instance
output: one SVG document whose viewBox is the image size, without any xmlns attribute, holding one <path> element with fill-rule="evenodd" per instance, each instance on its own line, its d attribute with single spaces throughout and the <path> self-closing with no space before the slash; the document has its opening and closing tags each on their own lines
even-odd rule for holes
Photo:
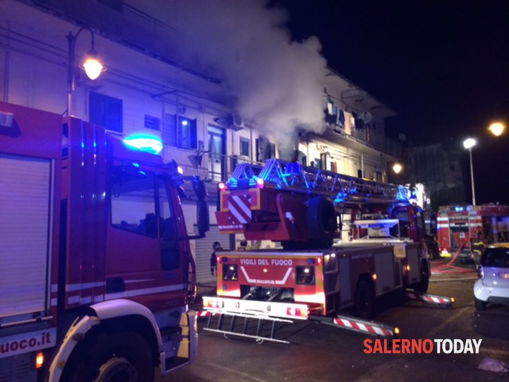
<svg viewBox="0 0 509 382">
<path fill-rule="evenodd" d="M 323 196 L 309 199 L 306 215 L 307 229 L 320 243 L 319 247 L 330 247 L 336 232 L 336 211 L 332 202 Z"/>
</svg>

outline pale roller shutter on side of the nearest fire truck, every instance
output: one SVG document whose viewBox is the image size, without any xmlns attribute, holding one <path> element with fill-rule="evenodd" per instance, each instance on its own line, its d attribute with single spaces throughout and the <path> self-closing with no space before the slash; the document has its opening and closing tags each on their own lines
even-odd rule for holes
<svg viewBox="0 0 509 382">
<path fill-rule="evenodd" d="M 51 162 L 0 153 L 0 317 L 46 309 Z"/>
</svg>

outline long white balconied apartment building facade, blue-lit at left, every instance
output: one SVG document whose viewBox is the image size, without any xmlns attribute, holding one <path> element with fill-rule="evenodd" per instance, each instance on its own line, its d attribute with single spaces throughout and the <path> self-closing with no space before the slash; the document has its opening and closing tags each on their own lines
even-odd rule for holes
<svg viewBox="0 0 509 382">
<path fill-rule="evenodd" d="M 171 20 L 132 4 L 122 0 L 0 3 L 0 99 L 73 115 L 124 136 L 143 133 L 160 138 L 164 161 L 176 160 L 186 175 L 199 175 L 208 184 L 211 232 L 191 243 L 199 280 L 208 282 L 213 279 L 208 264 L 212 242 L 233 249 L 240 241 L 218 234 L 213 213 L 217 182 L 228 179 L 239 162 L 263 163 L 281 153 L 274 137 L 234 114 L 224 79 L 172 59 L 171 44 L 162 44 L 174 28 Z M 92 81 L 76 67 L 75 89 L 68 102 L 66 36 L 84 25 L 94 31 L 94 48 L 107 70 Z M 77 36 L 76 63 L 90 49 L 90 37 L 88 29 Z M 298 159 L 307 166 L 387 181 L 388 163 L 401 155 L 401 147 L 384 132 L 384 118 L 394 112 L 333 70 L 321 83 L 323 128 L 320 133 L 299 133 Z M 192 232 L 195 200 L 182 203 Z"/>
</svg>

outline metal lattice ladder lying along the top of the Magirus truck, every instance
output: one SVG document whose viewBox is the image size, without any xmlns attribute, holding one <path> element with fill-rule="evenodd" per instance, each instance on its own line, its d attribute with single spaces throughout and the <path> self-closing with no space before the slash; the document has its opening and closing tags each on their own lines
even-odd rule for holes
<svg viewBox="0 0 509 382">
<path fill-rule="evenodd" d="M 277 189 L 308 195 L 325 195 L 334 203 L 393 203 L 406 201 L 408 187 L 375 182 L 349 175 L 301 166 L 298 162 L 269 159 L 265 166 L 242 163 L 226 183 L 229 189 L 264 187 L 272 184 Z"/>
</svg>

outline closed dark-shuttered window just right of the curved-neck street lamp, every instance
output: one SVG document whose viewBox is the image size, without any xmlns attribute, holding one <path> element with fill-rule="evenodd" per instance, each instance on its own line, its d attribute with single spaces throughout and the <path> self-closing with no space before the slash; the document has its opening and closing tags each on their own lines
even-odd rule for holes
<svg viewBox="0 0 509 382">
<path fill-rule="evenodd" d="M 122 132 L 122 100 L 90 92 L 89 121 L 108 130 Z"/>
</svg>

